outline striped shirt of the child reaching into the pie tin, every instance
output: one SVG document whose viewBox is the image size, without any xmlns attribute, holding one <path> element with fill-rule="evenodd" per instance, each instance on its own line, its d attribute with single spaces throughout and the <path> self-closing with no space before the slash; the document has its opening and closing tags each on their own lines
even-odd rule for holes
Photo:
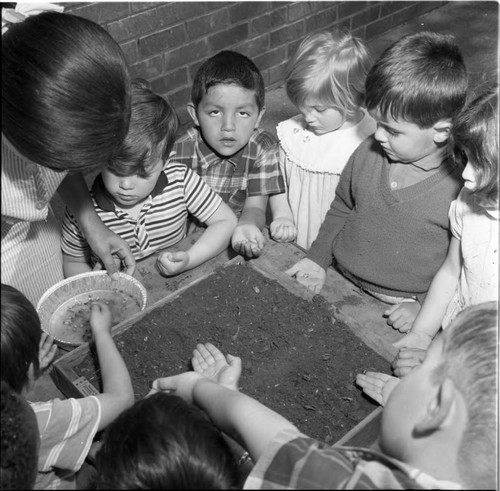
<svg viewBox="0 0 500 491">
<path fill-rule="evenodd" d="M 40 431 L 35 489 L 76 489 L 80 470 L 101 421 L 94 396 L 30 403 Z"/>
</svg>

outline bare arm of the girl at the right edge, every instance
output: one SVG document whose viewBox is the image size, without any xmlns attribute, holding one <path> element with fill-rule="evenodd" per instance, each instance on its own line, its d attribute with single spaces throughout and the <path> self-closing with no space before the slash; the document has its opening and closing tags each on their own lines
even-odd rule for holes
<svg viewBox="0 0 500 491">
<path fill-rule="evenodd" d="M 422 308 L 413 322 L 411 332 L 395 342 L 393 346 L 422 349 L 429 346 L 439 331 L 446 308 L 455 294 L 461 269 L 460 241 L 452 237 L 446 258 L 431 282 Z"/>
</svg>

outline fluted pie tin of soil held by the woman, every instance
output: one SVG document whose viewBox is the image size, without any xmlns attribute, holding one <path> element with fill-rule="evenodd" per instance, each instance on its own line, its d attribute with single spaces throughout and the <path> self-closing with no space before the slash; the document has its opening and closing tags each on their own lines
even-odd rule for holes
<svg viewBox="0 0 500 491">
<path fill-rule="evenodd" d="M 112 280 L 107 271 L 71 276 L 49 288 L 37 305 L 42 329 L 63 348 L 92 340 L 90 310 L 94 302 L 108 305 L 113 326 L 144 310 L 147 293 L 130 275 Z"/>
</svg>

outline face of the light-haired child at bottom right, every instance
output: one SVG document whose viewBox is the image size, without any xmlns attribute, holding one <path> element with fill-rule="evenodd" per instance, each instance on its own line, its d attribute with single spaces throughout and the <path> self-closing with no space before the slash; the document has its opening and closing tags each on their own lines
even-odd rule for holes
<svg viewBox="0 0 500 491">
<path fill-rule="evenodd" d="M 425 360 L 394 387 L 382 413 L 380 447 L 388 455 L 407 461 L 415 425 L 428 413 L 439 384 L 433 372 L 442 362 L 443 343 L 434 340 Z"/>
</svg>

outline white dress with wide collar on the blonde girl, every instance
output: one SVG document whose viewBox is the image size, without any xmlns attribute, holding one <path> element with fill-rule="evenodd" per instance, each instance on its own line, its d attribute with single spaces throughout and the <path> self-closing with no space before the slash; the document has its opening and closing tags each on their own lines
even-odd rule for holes
<svg viewBox="0 0 500 491">
<path fill-rule="evenodd" d="M 349 157 L 376 127 L 375 120 L 365 111 L 358 124 L 319 136 L 307 129 L 301 114 L 278 124 L 280 166 L 299 246 L 311 246 L 335 198 Z"/>
</svg>

